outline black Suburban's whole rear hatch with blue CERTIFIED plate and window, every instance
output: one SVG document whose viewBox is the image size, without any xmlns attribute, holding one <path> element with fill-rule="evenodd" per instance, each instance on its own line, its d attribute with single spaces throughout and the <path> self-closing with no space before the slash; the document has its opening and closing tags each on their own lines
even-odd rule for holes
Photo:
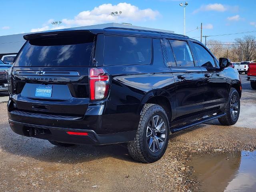
<svg viewBox="0 0 256 192">
<path fill-rule="evenodd" d="M 60 31 L 24 38 L 27 42 L 11 76 L 13 112 L 83 118 L 89 103 L 88 68 L 95 34 L 89 30 Z"/>
</svg>

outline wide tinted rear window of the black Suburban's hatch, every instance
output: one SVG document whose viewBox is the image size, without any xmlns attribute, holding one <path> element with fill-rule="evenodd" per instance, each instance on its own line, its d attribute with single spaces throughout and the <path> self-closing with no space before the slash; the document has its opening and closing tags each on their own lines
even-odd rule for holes
<svg viewBox="0 0 256 192">
<path fill-rule="evenodd" d="M 15 66 L 89 66 L 93 41 L 86 35 L 29 40 L 17 57 Z"/>
</svg>

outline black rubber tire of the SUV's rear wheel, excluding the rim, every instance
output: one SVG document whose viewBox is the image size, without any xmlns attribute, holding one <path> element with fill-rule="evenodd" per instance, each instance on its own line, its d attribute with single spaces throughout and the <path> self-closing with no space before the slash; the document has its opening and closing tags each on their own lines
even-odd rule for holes
<svg viewBox="0 0 256 192">
<path fill-rule="evenodd" d="M 164 140 L 162 148 L 158 152 L 152 153 L 148 148 L 146 129 L 150 119 L 155 115 L 159 115 L 164 120 L 164 123 L 166 125 L 166 138 Z M 144 163 L 155 162 L 164 155 L 169 141 L 169 134 L 169 121 L 164 109 L 157 104 L 145 104 L 140 115 L 140 122 L 135 138 L 133 141 L 130 141 L 127 144 L 128 151 L 132 158 L 136 161 Z"/>
</svg>

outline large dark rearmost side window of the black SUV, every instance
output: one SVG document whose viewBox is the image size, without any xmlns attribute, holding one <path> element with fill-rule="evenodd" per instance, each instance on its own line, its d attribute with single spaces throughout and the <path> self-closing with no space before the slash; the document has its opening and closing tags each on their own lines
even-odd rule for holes
<svg viewBox="0 0 256 192">
<path fill-rule="evenodd" d="M 151 38 L 105 36 L 105 65 L 144 65 L 151 63 Z"/>
</svg>

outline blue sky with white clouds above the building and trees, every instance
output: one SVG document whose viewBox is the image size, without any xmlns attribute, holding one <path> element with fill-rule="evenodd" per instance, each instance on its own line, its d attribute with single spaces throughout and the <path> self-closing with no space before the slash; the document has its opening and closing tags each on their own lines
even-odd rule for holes
<svg viewBox="0 0 256 192">
<path fill-rule="evenodd" d="M 137 26 L 174 30 L 183 34 L 184 0 L 3 0 L 1 2 L 0 36 L 51 30 L 51 22 L 62 21 L 59 28 L 115 22 L 110 11 L 122 11 L 118 22 Z M 255 1 L 188 0 L 186 35 L 199 39 L 203 35 L 256 31 Z M 194 30 L 192 32 L 189 32 Z M 255 33 L 250 33 L 256 35 Z M 214 36 L 209 39 L 233 41 L 245 34 Z"/>
</svg>

